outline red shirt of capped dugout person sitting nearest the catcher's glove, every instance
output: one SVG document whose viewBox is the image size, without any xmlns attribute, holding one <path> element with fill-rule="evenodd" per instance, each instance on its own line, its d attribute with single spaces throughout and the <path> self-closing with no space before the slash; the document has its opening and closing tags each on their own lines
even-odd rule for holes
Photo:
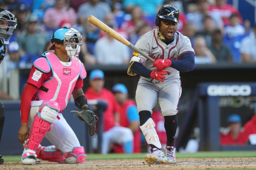
<svg viewBox="0 0 256 170">
<path fill-rule="evenodd" d="M 115 126 L 115 112 L 119 112 L 120 107 L 115 99 L 114 94 L 103 88 L 101 93 L 96 93 L 92 90 L 92 87 L 88 87 L 84 93 L 87 100 L 104 100 L 107 102 L 107 109 L 103 114 L 103 129 L 104 132 Z"/>
</svg>

